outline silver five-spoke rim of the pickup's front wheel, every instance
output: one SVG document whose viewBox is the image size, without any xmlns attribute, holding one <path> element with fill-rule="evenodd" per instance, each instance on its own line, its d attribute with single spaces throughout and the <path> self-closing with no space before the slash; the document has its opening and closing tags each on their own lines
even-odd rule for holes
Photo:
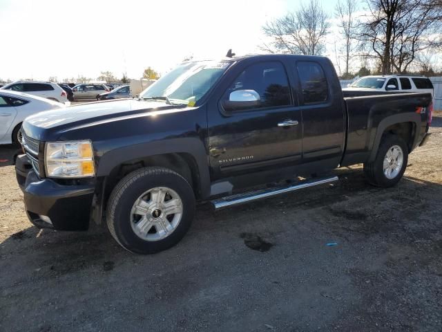
<svg viewBox="0 0 442 332">
<path fill-rule="evenodd" d="M 154 187 L 133 203 L 131 226 L 144 241 L 159 241 L 169 237 L 180 225 L 182 200 L 168 187 Z"/>
</svg>

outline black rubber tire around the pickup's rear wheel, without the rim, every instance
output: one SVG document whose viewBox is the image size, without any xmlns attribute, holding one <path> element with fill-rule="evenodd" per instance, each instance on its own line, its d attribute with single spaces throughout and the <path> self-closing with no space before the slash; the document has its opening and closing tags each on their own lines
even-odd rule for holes
<svg viewBox="0 0 442 332">
<path fill-rule="evenodd" d="M 385 155 L 387 154 L 387 151 L 389 149 L 392 149 L 397 145 L 398 147 L 401 147 L 402 153 L 403 153 L 403 163 L 400 172 L 394 178 L 387 178 L 384 174 L 383 169 L 383 163 Z M 408 163 L 408 147 L 405 144 L 404 140 L 396 135 L 393 134 L 387 134 L 383 136 L 381 140 L 381 145 L 379 145 L 378 152 L 376 154 L 376 158 L 372 163 L 365 163 L 364 164 L 364 174 L 367 178 L 367 181 L 372 184 L 376 185 L 378 187 L 392 187 L 398 183 L 404 172 L 407 168 Z"/>
</svg>

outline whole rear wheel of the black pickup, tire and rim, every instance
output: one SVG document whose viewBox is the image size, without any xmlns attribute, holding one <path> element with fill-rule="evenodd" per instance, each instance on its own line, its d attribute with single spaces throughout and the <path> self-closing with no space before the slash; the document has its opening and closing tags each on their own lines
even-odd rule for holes
<svg viewBox="0 0 442 332">
<path fill-rule="evenodd" d="M 408 148 L 402 138 L 386 135 L 379 145 L 376 158 L 364 164 L 367 181 L 378 187 L 392 187 L 401 180 L 408 162 Z"/>
</svg>

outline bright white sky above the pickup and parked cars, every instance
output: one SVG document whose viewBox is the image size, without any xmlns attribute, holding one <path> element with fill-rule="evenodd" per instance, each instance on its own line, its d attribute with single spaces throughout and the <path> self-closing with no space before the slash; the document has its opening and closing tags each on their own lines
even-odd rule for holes
<svg viewBox="0 0 442 332">
<path fill-rule="evenodd" d="M 333 14 L 336 0 L 321 1 Z M 47 80 L 100 71 L 138 78 L 193 54 L 258 53 L 261 26 L 289 0 L 0 0 L 0 79 Z"/>
</svg>

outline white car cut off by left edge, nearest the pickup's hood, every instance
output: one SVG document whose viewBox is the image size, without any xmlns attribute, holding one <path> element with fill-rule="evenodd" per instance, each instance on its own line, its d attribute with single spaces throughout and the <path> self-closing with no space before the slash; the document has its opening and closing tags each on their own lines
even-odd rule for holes
<svg viewBox="0 0 442 332">
<path fill-rule="evenodd" d="M 31 114 L 65 107 L 61 102 L 0 89 L 0 144 L 19 142 L 21 122 Z"/>
</svg>

